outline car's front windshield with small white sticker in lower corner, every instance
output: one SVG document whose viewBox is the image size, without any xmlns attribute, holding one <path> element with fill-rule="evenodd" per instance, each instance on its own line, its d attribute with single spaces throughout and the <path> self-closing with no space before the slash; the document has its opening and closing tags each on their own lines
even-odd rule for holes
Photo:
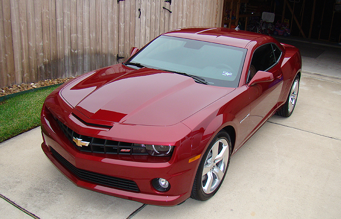
<svg viewBox="0 0 341 219">
<path fill-rule="evenodd" d="M 246 49 L 179 37 L 161 36 L 128 62 L 153 69 L 187 73 L 208 85 L 238 87 Z"/>
</svg>

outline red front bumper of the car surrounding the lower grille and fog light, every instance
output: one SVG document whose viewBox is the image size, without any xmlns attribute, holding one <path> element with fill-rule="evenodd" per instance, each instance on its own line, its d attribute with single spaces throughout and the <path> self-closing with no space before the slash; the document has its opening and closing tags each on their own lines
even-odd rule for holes
<svg viewBox="0 0 341 219">
<path fill-rule="evenodd" d="M 118 198 L 139 201 L 146 204 L 173 206 L 189 198 L 197 162 L 189 163 L 190 148 L 181 150 L 178 146 L 169 161 L 136 160 L 138 155 L 108 155 L 79 151 L 66 138 L 57 122 L 44 113 L 41 115 L 43 143 L 46 156 L 69 180 L 79 187 L 112 195 Z M 190 142 L 190 141 L 188 141 Z M 190 144 L 189 144 L 190 147 Z M 185 147 L 183 147 L 185 148 Z M 187 151 L 187 153 L 186 153 Z M 148 155 L 149 156 L 149 155 Z M 106 177 L 104 181 L 87 180 L 76 170 Z M 95 176 L 95 178 L 98 176 Z M 159 192 L 152 186 L 152 180 L 164 178 L 170 183 L 170 190 Z M 110 182 L 117 179 L 121 185 Z M 135 183 L 137 190 L 124 187 L 124 183 Z M 123 183 L 123 186 L 122 186 Z"/>
</svg>

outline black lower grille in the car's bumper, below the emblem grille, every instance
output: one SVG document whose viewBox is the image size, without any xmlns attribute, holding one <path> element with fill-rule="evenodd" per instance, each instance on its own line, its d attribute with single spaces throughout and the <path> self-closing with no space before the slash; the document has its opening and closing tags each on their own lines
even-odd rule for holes
<svg viewBox="0 0 341 219">
<path fill-rule="evenodd" d="M 107 176 L 104 174 L 99 174 L 83 169 L 78 169 L 76 166 L 72 165 L 65 158 L 63 158 L 58 152 L 51 148 L 51 152 L 53 156 L 59 161 L 60 164 L 63 164 L 68 170 L 70 170 L 73 174 L 75 174 L 78 178 L 89 181 L 96 184 L 101 184 L 105 186 L 114 187 L 117 189 L 125 189 L 133 192 L 139 192 L 139 188 L 136 183 L 131 180 L 125 180 L 121 178 L 116 178 L 112 176 Z"/>
</svg>

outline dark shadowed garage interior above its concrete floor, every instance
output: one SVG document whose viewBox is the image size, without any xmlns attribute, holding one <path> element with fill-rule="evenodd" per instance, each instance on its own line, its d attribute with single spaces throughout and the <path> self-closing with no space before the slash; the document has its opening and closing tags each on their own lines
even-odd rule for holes
<svg viewBox="0 0 341 219">
<path fill-rule="evenodd" d="M 223 8 L 225 27 L 334 43 L 341 40 L 341 0 L 225 0 Z"/>
</svg>

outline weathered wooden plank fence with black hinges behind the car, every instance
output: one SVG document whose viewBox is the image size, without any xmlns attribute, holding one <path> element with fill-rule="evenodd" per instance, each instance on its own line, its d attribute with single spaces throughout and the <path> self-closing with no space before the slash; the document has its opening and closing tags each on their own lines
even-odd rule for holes
<svg viewBox="0 0 341 219">
<path fill-rule="evenodd" d="M 220 26 L 223 0 L 1 0 L 0 87 L 76 76 L 172 29 Z M 218 21 L 218 22 L 217 22 Z M 117 61 L 117 56 L 124 57 Z"/>
</svg>

